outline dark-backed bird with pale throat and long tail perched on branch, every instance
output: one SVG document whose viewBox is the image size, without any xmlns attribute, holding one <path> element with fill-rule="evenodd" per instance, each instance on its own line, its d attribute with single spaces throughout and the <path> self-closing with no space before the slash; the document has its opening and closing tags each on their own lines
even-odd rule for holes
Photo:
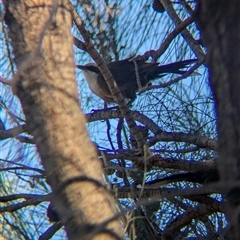
<svg viewBox="0 0 240 240">
<path fill-rule="evenodd" d="M 126 58 L 106 63 L 106 65 L 113 75 L 122 96 L 132 102 L 136 98 L 136 93 L 141 88 L 147 86 L 150 81 L 161 78 L 168 73 L 184 74 L 187 71 L 182 69 L 194 62 L 197 62 L 197 59 L 160 65 L 159 63 L 150 63 L 145 60 L 131 60 L 131 58 Z M 115 102 L 96 63 L 76 65 L 76 67 L 82 70 L 90 90 L 95 95 L 107 103 Z"/>
</svg>

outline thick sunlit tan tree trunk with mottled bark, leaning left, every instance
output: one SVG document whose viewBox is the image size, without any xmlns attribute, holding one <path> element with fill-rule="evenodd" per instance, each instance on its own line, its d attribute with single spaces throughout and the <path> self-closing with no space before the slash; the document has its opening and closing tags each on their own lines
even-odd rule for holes
<svg viewBox="0 0 240 240">
<path fill-rule="evenodd" d="M 67 4 L 4 2 L 18 69 L 14 89 L 69 239 L 117 239 L 118 220 L 96 226 L 114 216 L 116 208 L 79 107 Z"/>
</svg>

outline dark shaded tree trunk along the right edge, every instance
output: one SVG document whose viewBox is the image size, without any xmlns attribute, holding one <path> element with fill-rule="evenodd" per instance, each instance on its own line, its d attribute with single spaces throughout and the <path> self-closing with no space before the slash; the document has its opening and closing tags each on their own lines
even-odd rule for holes
<svg viewBox="0 0 240 240">
<path fill-rule="evenodd" d="M 227 239 L 232 240 L 240 236 L 239 11 L 239 0 L 199 0 L 196 12 L 208 51 L 210 84 L 216 99 L 218 168 L 230 223 Z"/>
</svg>

